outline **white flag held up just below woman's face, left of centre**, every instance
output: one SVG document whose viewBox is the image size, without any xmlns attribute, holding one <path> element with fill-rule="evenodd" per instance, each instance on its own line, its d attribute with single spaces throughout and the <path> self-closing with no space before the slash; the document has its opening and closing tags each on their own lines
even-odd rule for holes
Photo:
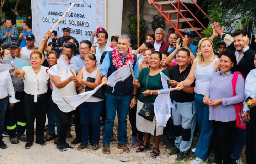
<svg viewBox="0 0 256 164">
<path fill-rule="evenodd" d="M 59 76 L 62 78 L 69 77 L 69 71 L 70 71 L 69 65 L 62 55 L 57 60 L 57 64 L 55 64 L 54 66 L 50 67 L 50 69 L 47 70 L 47 72 L 50 75 Z"/>
</svg>

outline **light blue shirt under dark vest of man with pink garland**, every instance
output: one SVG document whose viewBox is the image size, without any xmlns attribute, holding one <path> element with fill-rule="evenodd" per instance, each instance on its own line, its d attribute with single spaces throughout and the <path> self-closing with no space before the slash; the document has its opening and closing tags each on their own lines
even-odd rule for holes
<svg viewBox="0 0 256 164">
<path fill-rule="evenodd" d="M 127 55 L 127 54 L 126 54 Z M 126 55 L 124 57 L 121 56 L 123 62 L 125 61 L 126 59 Z M 109 55 L 108 53 L 106 54 L 103 62 L 102 62 L 102 65 L 101 65 L 101 69 L 100 69 L 100 75 L 101 73 L 105 73 L 106 75 L 108 74 L 108 68 L 110 67 L 110 58 L 109 58 Z M 138 79 L 139 77 L 139 65 L 138 65 L 138 59 L 136 60 L 136 64 L 134 66 L 134 69 L 133 69 L 133 72 L 134 72 L 134 75 L 135 75 L 135 79 Z"/>
</svg>

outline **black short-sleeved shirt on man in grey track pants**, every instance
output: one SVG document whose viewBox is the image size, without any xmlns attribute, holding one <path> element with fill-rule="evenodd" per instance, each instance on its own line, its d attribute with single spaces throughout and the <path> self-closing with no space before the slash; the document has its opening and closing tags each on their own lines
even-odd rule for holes
<svg viewBox="0 0 256 164">
<path fill-rule="evenodd" d="M 191 64 L 188 64 L 187 68 L 185 70 L 183 70 L 181 73 L 179 71 L 179 65 L 174 66 L 170 70 L 170 79 L 175 80 L 177 82 L 181 82 L 181 81 L 185 80 L 190 72 L 191 66 L 192 66 Z M 191 87 L 194 87 L 194 86 L 195 86 L 195 82 L 193 82 Z M 176 102 L 180 102 L 180 103 L 192 102 L 192 101 L 194 101 L 194 94 L 187 93 L 182 90 L 181 91 L 172 91 L 171 99 Z"/>
</svg>

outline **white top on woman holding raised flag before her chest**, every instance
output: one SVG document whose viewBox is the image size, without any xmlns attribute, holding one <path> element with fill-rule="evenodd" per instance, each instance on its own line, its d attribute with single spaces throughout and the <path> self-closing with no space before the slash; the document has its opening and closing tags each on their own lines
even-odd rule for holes
<svg viewBox="0 0 256 164">
<path fill-rule="evenodd" d="M 72 69 L 73 70 L 73 69 Z M 74 71 L 74 70 L 73 70 Z M 72 73 L 70 71 L 68 72 L 68 76 L 70 77 L 72 76 Z M 75 72 L 75 71 L 74 71 Z M 67 78 L 62 78 L 60 77 L 60 81 L 64 81 Z M 77 95 L 76 93 L 76 86 L 75 86 L 75 82 L 71 81 L 69 82 L 64 88 L 57 88 L 54 83 L 52 82 L 52 86 L 53 86 L 53 91 L 52 91 L 52 100 L 55 104 L 57 104 L 57 106 L 59 107 L 59 109 L 63 112 L 70 112 L 73 111 L 74 109 L 71 108 L 63 99 L 63 96 L 72 96 L 72 95 Z"/>
</svg>

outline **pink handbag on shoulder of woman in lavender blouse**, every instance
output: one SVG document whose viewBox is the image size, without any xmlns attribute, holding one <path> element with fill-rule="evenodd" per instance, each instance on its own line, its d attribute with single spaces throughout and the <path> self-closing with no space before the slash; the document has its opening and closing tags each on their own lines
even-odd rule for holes
<svg viewBox="0 0 256 164">
<path fill-rule="evenodd" d="M 242 76 L 242 74 L 240 72 L 235 72 L 233 75 L 233 78 L 232 78 L 233 96 L 236 95 L 235 88 L 236 88 L 236 82 L 238 79 L 238 75 Z M 244 76 L 242 76 L 242 77 L 244 78 Z M 241 103 L 235 104 L 234 106 L 235 106 L 235 112 L 236 112 L 236 127 L 240 128 L 240 129 L 246 129 L 246 121 L 244 119 L 244 116 L 242 116 L 242 114 L 244 113 L 243 103 L 241 102 Z"/>
</svg>

